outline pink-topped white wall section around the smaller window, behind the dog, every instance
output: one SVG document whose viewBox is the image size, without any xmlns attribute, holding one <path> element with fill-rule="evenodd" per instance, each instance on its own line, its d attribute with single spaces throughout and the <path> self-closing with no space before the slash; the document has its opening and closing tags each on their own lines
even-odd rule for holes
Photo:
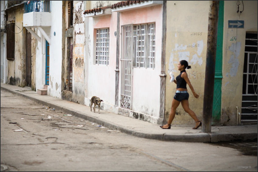
<svg viewBox="0 0 258 172">
<path fill-rule="evenodd" d="M 85 97 L 85 105 L 90 105 L 92 96 L 98 96 L 103 100 L 103 109 L 110 112 L 117 112 L 112 107 L 115 104 L 115 69 L 116 69 L 116 37 L 114 32 L 117 30 L 117 13 L 112 16 L 89 17 L 89 53 L 88 53 L 88 95 Z M 96 65 L 96 31 L 94 29 L 110 28 L 110 51 L 109 65 Z M 95 34 L 95 35 L 94 35 Z"/>
</svg>

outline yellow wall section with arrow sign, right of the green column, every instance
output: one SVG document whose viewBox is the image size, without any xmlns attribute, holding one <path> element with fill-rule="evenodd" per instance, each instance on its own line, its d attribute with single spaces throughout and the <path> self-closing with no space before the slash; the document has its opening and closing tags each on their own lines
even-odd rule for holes
<svg viewBox="0 0 258 172">
<path fill-rule="evenodd" d="M 237 13 L 237 1 L 225 1 L 222 66 L 221 122 L 236 124 L 236 106 L 241 113 L 246 32 L 257 32 L 257 1 L 243 1 L 244 11 Z M 242 1 L 239 10 L 242 11 Z M 243 29 L 228 28 L 228 20 L 244 20 Z M 231 40 L 235 37 L 236 40 Z"/>
</svg>

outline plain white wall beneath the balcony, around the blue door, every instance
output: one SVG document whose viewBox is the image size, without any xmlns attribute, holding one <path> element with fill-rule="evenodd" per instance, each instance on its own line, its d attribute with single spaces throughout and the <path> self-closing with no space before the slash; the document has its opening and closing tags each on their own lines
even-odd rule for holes
<svg viewBox="0 0 258 172">
<path fill-rule="evenodd" d="M 51 39 L 49 46 L 50 71 L 47 94 L 61 98 L 61 66 L 62 66 L 62 1 L 51 2 L 51 28 L 42 27 Z M 54 36 L 54 32 L 56 35 Z M 40 31 L 38 35 L 42 37 Z M 36 48 L 36 89 L 43 89 L 45 84 L 45 39 L 38 42 Z"/>
</svg>

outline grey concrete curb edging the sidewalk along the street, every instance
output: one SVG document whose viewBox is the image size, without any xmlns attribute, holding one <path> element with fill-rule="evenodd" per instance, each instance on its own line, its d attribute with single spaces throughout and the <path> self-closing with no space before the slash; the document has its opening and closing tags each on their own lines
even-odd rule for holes
<svg viewBox="0 0 258 172">
<path fill-rule="evenodd" d="M 7 89 L 1 86 L 1 89 L 8 91 L 10 93 L 16 94 L 18 96 L 25 97 L 27 99 L 33 100 L 34 102 L 44 104 L 45 106 L 55 107 L 56 110 L 63 110 L 65 113 L 71 114 L 73 116 L 82 118 L 84 120 L 89 120 L 94 123 L 98 123 L 102 126 L 106 126 L 112 130 L 119 130 L 122 133 L 130 134 L 135 137 L 142 137 L 146 139 L 155 139 L 163 141 L 180 141 L 180 142 L 221 142 L 221 141 L 253 141 L 257 140 L 257 133 L 228 133 L 228 132 L 212 132 L 212 133 L 183 133 L 183 134 L 155 134 L 155 133 L 143 133 L 132 129 L 128 129 L 124 126 L 114 124 L 110 121 L 99 119 L 97 117 L 91 116 L 86 113 L 81 113 L 76 110 L 68 109 L 64 106 L 57 105 L 55 103 L 50 103 L 48 101 L 43 101 L 37 98 L 30 97 L 18 91 Z"/>
</svg>

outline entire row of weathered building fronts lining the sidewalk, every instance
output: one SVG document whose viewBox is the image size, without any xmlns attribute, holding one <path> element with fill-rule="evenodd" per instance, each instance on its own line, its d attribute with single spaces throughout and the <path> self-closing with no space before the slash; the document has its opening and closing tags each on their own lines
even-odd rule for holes
<svg viewBox="0 0 258 172">
<path fill-rule="evenodd" d="M 257 1 L 237 2 L 219 2 L 215 81 L 210 83 L 214 125 L 257 123 Z M 98 96 L 103 110 L 162 124 L 176 91 L 169 73 L 177 76 L 178 62 L 187 60 L 188 77 L 200 96 L 195 99 L 187 86 L 189 104 L 201 120 L 209 8 L 210 1 L 11 5 L 5 9 L 5 28 L 15 23 L 14 32 L 20 33 L 9 58 L 9 48 L 2 46 L 9 36 L 1 25 L 1 82 L 85 106 Z M 194 121 L 179 106 L 173 124 Z"/>
</svg>

